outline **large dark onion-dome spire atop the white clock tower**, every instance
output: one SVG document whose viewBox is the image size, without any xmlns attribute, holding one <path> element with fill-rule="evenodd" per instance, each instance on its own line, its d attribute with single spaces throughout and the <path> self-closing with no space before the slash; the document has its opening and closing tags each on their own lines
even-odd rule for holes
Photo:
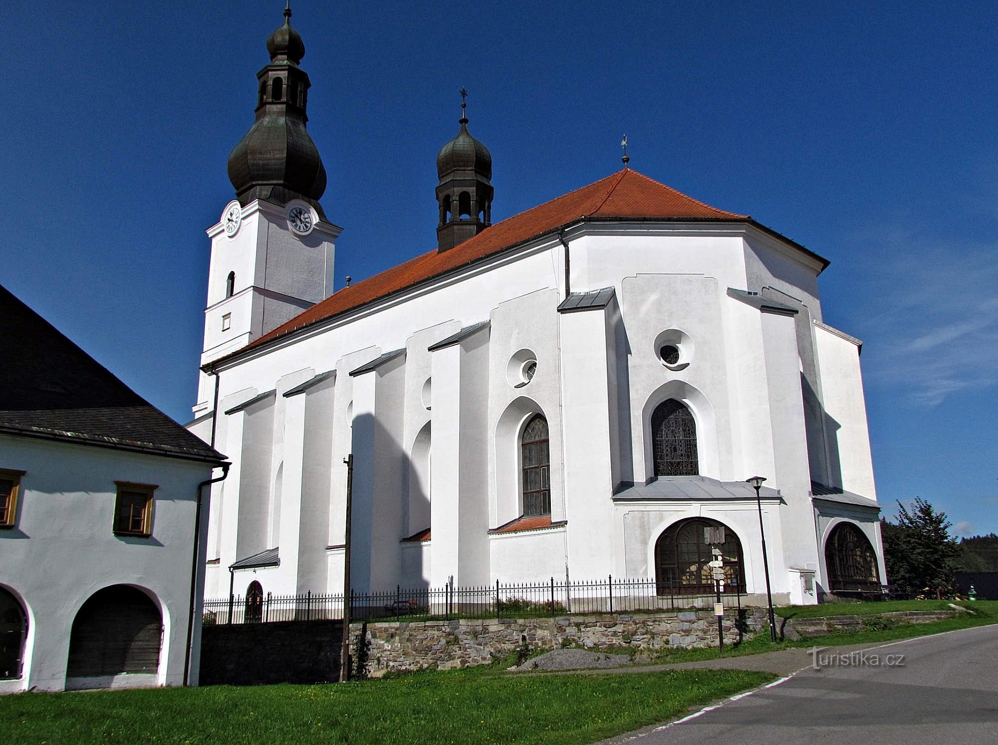
<svg viewBox="0 0 998 745">
<path fill-rule="evenodd" d="M 229 180 L 244 206 L 253 199 L 286 204 L 318 203 L 325 191 L 325 167 L 305 130 L 311 83 L 298 62 L 305 54 L 301 35 L 291 27 L 291 10 L 266 40 L 270 64 L 256 73 L 256 120 L 229 156 Z"/>
</svg>

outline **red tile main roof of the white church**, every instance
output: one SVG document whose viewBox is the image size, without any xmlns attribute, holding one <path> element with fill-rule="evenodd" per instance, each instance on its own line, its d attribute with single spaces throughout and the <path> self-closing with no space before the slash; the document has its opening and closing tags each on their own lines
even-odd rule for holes
<svg viewBox="0 0 998 745">
<path fill-rule="evenodd" d="M 710 206 L 675 188 L 642 176 L 637 171 L 625 169 L 595 184 L 577 188 L 575 191 L 497 222 L 450 250 L 433 249 L 349 287 L 343 287 L 286 323 L 263 334 L 242 350 L 222 359 L 239 355 L 246 349 L 265 344 L 279 336 L 352 310 L 392 292 L 411 287 L 504 248 L 524 243 L 581 218 L 724 221 L 751 219 L 745 214 L 727 212 Z"/>
</svg>

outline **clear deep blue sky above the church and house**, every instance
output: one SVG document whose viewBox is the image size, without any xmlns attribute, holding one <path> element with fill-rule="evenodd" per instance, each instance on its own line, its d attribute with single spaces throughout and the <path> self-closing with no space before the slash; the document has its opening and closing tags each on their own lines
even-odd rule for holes
<svg viewBox="0 0 998 745">
<path fill-rule="evenodd" d="M 209 240 L 280 0 L 5 12 L 0 283 L 190 418 Z M 831 260 L 878 496 L 998 532 L 998 6 L 294 0 L 342 277 L 435 245 L 434 158 L 494 220 L 631 166 Z M 8 358 L 16 363 L 16 355 Z"/>
</svg>

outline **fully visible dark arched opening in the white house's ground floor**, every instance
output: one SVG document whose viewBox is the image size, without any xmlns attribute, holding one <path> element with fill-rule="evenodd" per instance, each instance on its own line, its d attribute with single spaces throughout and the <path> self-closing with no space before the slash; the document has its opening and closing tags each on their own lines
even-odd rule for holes
<svg viewBox="0 0 998 745">
<path fill-rule="evenodd" d="M 73 621 L 66 677 L 155 674 L 163 617 L 141 589 L 116 584 L 90 596 Z"/>
</svg>

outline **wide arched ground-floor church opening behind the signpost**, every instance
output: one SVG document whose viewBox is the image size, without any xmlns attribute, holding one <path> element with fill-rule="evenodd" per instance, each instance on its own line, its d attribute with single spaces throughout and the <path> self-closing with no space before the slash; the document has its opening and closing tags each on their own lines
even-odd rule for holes
<svg viewBox="0 0 998 745">
<path fill-rule="evenodd" d="M 713 549 L 721 551 L 726 588 L 745 591 L 742 543 L 735 531 L 716 520 L 693 518 L 671 525 L 655 544 L 659 594 L 714 592 Z"/>
</svg>

